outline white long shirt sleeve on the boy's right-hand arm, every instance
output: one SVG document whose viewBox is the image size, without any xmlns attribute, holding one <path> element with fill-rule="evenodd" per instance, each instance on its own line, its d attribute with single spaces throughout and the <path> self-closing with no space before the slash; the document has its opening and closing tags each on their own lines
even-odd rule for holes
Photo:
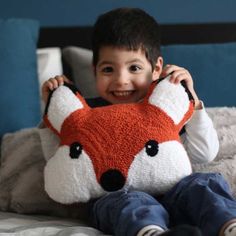
<svg viewBox="0 0 236 236">
<path fill-rule="evenodd" d="M 183 145 L 192 163 L 212 161 L 219 151 L 219 140 L 211 118 L 204 105 L 195 110 L 181 135 Z"/>
</svg>

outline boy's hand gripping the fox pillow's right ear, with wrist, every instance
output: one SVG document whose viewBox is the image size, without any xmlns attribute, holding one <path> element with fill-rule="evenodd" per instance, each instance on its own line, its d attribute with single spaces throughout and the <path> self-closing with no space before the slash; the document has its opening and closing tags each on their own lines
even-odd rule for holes
<svg viewBox="0 0 236 236">
<path fill-rule="evenodd" d="M 183 67 L 179 67 L 176 65 L 166 65 L 162 70 L 161 77 L 165 77 L 169 74 L 171 74 L 171 77 L 170 77 L 171 83 L 178 84 L 181 81 L 185 81 L 188 90 L 191 92 L 191 94 L 193 96 L 193 99 L 195 102 L 194 108 L 201 109 L 202 105 L 198 99 L 198 96 L 197 96 L 194 88 L 193 88 L 193 79 L 192 79 L 192 76 L 189 73 L 189 71 Z"/>
</svg>

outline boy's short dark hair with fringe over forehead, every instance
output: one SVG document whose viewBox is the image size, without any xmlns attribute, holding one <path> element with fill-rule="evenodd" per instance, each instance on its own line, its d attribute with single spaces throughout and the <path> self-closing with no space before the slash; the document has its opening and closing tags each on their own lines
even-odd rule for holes
<svg viewBox="0 0 236 236">
<path fill-rule="evenodd" d="M 144 50 L 146 58 L 155 68 L 160 52 L 159 25 L 156 20 L 139 8 L 117 8 L 100 15 L 94 24 L 92 49 L 93 65 L 104 46 Z"/>
</svg>

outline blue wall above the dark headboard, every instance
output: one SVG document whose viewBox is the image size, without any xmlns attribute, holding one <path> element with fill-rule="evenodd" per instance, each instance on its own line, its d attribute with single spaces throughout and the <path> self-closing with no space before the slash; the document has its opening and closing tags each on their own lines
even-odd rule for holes
<svg viewBox="0 0 236 236">
<path fill-rule="evenodd" d="M 236 22 L 235 0 L 0 0 L 0 18 L 38 19 L 42 26 L 91 25 L 115 7 L 140 7 L 159 23 Z"/>
</svg>

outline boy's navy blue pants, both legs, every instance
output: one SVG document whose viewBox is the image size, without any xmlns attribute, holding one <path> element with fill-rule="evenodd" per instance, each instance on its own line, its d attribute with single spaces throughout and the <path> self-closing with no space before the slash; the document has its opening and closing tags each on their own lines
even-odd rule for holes
<svg viewBox="0 0 236 236">
<path fill-rule="evenodd" d="M 224 223 L 236 219 L 236 200 L 221 174 L 194 173 L 158 200 L 127 189 L 109 193 L 93 203 L 91 217 L 96 228 L 116 236 L 134 236 L 147 225 L 179 224 L 217 236 Z"/>
</svg>

